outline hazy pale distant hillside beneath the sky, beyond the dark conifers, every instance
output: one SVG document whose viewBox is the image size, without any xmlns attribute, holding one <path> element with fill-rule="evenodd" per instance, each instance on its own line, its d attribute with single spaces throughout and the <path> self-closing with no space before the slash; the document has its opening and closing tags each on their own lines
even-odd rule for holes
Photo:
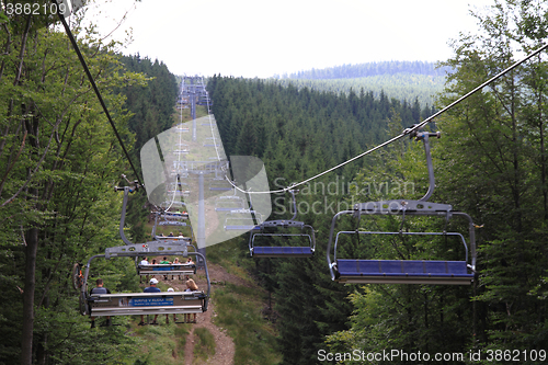
<svg viewBox="0 0 548 365">
<path fill-rule="evenodd" d="M 449 69 L 436 68 L 426 61 L 383 61 L 361 65 L 343 65 L 324 69 L 311 69 L 274 79 L 282 85 L 293 84 L 298 89 L 347 93 L 350 89 L 359 92 L 372 91 L 376 98 L 384 93 L 389 99 L 432 106 L 434 95 L 443 90 L 445 75 Z"/>
</svg>

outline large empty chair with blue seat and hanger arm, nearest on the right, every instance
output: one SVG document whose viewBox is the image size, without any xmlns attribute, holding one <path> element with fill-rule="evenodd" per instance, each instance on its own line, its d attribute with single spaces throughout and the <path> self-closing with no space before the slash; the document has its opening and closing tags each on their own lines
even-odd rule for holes
<svg viewBox="0 0 548 365">
<path fill-rule="evenodd" d="M 453 210 L 448 204 L 431 203 L 427 199 L 434 192 L 434 168 L 430 155 L 429 137 L 439 134 L 414 133 L 418 140 L 424 142 L 426 163 L 429 169 L 430 187 L 426 194 L 419 201 L 393 199 L 381 202 L 368 202 L 354 205 L 353 210 L 339 212 L 332 219 L 329 233 L 329 243 L 327 259 L 331 278 L 340 283 L 356 284 L 449 284 L 449 285 L 470 285 L 475 278 L 476 270 L 476 237 L 475 224 L 471 217 L 461 212 Z M 412 137 L 413 137 L 412 136 Z M 446 224 L 453 216 L 465 217 L 468 219 L 471 264 L 468 264 L 468 247 L 465 238 L 456 232 L 406 232 L 400 229 L 399 232 L 375 232 L 375 231 L 339 231 L 334 237 L 335 221 L 342 215 L 353 215 L 359 218 L 364 215 L 401 215 L 403 220 L 406 216 L 437 216 L 444 217 Z M 358 227 L 358 226 L 356 226 Z M 336 250 L 341 235 L 400 235 L 400 236 L 445 236 L 457 237 L 465 247 L 464 261 L 427 261 L 427 260 L 362 260 L 362 259 L 338 259 Z M 331 247 L 333 246 L 333 258 L 331 258 Z"/>
</svg>

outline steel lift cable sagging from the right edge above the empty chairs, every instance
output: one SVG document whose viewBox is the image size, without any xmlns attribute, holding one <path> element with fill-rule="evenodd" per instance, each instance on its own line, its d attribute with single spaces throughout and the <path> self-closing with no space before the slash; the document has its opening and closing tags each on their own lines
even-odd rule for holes
<svg viewBox="0 0 548 365">
<path fill-rule="evenodd" d="M 513 70 L 514 68 L 516 68 L 517 66 L 522 65 L 523 62 L 525 62 L 526 60 L 528 60 L 529 58 L 538 55 L 539 53 L 541 53 L 543 50 L 545 50 L 546 48 L 548 48 L 548 44 L 545 44 L 544 46 L 541 46 L 540 48 L 538 48 L 537 50 L 533 52 L 532 54 L 529 54 L 528 56 L 526 56 L 525 58 L 523 58 L 522 60 L 518 60 L 516 61 L 515 64 L 513 64 L 512 66 L 510 66 L 509 68 L 506 68 L 505 70 L 499 72 L 498 75 L 493 76 L 491 79 L 487 80 L 486 82 L 483 82 L 482 84 L 480 84 L 479 87 L 476 87 L 473 90 L 469 91 L 468 93 L 466 93 L 465 95 L 460 96 L 459 99 L 457 99 L 456 101 L 454 101 L 453 103 L 450 103 L 449 105 L 445 106 L 444 109 L 442 109 L 441 111 L 434 113 L 433 115 L 429 116 L 426 119 L 422 121 L 421 123 L 419 124 L 415 124 L 413 125 L 412 127 L 409 127 L 409 128 L 406 128 L 403 129 L 403 132 L 401 134 L 399 134 L 398 136 L 361 153 L 361 155 L 357 155 L 353 158 L 351 158 L 350 160 L 346 160 L 342 163 L 339 163 L 338 166 L 333 167 L 333 168 L 330 168 L 329 170 L 326 170 L 323 172 L 320 172 L 319 174 L 312 176 L 312 178 L 309 178 L 307 180 L 304 180 L 299 183 L 293 183 L 290 184 L 289 186 L 287 187 L 284 187 L 284 189 L 279 189 L 279 190 L 271 190 L 271 191 L 263 191 L 263 192 L 252 192 L 252 191 L 246 191 L 246 190 L 242 190 L 240 187 L 238 187 L 236 185 L 236 182 L 231 181 L 228 175 L 225 175 L 225 179 L 230 183 L 230 185 L 232 185 L 236 190 L 242 192 L 242 193 L 246 193 L 246 194 L 275 194 L 275 193 L 285 193 L 289 190 L 293 190 L 297 186 L 300 186 L 302 184 L 306 184 L 315 179 L 318 179 L 329 172 L 332 172 L 333 170 L 336 170 L 350 162 L 353 162 L 366 155 L 369 155 L 370 152 L 374 152 L 376 151 L 377 149 L 381 148 L 381 147 L 385 147 L 387 145 L 390 145 L 391 142 L 400 139 L 401 137 L 404 137 L 407 135 L 411 135 L 413 134 L 415 130 L 419 130 L 420 128 L 424 127 L 427 123 L 430 123 L 432 119 L 434 119 L 436 116 L 447 112 L 449 109 L 452 109 L 453 106 L 457 105 L 458 103 L 460 103 L 461 101 L 464 101 L 465 99 L 468 99 L 468 96 L 470 96 L 471 94 L 476 93 L 478 90 L 481 90 L 483 89 L 486 85 L 488 85 L 489 83 L 493 82 L 494 80 L 501 78 L 502 76 L 504 76 L 505 73 L 510 72 L 511 70 Z"/>
</svg>

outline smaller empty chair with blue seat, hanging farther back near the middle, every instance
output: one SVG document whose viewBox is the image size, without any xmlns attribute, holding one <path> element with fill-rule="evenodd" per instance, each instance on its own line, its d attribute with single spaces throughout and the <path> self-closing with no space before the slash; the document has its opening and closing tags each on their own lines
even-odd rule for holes
<svg viewBox="0 0 548 365">
<path fill-rule="evenodd" d="M 295 199 L 295 191 L 289 191 L 293 198 L 294 215 L 290 219 L 266 220 L 255 226 L 249 237 L 249 252 L 251 256 L 256 258 L 310 258 L 316 250 L 316 236 L 312 226 L 306 225 L 302 221 L 297 221 L 297 202 Z M 298 231 L 295 233 L 295 231 Z M 308 246 L 255 246 L 258 237 L 281 237 L 295 238 L 299 237 L 308 241 Z"/>
</svg>

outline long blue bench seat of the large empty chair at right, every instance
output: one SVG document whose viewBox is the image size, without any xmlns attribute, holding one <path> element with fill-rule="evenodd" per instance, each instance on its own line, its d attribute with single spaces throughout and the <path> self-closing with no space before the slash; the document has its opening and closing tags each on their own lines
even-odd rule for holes
<svg viewBox="0 0 548 365">
<path fill-rule="evenodd" d="M 466 261 L 336 260 L 335 280 L 352 284 L 469 285 Z"/>
</svg>

